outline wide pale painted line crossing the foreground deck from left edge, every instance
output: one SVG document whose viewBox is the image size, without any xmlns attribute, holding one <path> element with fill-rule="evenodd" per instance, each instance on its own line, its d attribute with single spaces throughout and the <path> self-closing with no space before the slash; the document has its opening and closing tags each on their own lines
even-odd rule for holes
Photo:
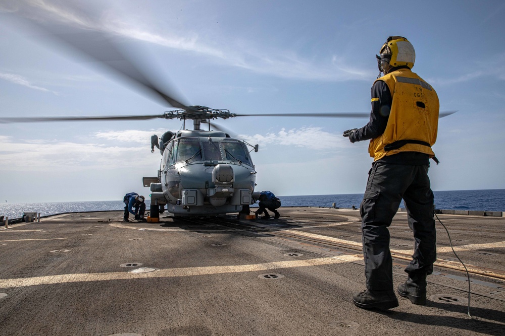
<svg viewBox="0 0 505 336">
<path fill-rule="evenodd" d="M 18 278 L 18 279 L 0 279 L 0 288 L 16 288 L 36 285 L 49 285 L 60 283 L 76 283 L 90 281 L 108 281 L 123 279 L 144 279 L 144 278 L 176 278 L 190 276 L 204 276 L 226 273 L 242 273 L 278 270 L 280 268 L 319 266 L 328 264 L 337 264 L 349 261 L 363 259 L 358 255 L 323 257 L 305 260 L 274 261 L 259 264 L 248 265 L 226 265 L 226 266 L 200 266 L 200 267 L 182 267 L 166 268 L 152 273 L 129 273 L 129 272 L 110 272 L 110 273 L 84 273 L 84 274 L 63 274 L 56 276 Z"/>
</svg>

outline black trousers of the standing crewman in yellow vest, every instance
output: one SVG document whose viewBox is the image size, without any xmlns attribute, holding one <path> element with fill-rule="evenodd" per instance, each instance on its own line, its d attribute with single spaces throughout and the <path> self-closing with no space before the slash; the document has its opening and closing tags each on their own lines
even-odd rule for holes
<svg viewBox="0 0 505 336">
<path fill-rule="evenodd" d="M 428 165 L 374 162 L 360 206 L 367 289 L 392 291 L 389 230 L 403 198 L 409 227 L 414 232 L 414 254 L 405 272 L 431 274 L 436 260 L 434 199 Z"/>
</svg>

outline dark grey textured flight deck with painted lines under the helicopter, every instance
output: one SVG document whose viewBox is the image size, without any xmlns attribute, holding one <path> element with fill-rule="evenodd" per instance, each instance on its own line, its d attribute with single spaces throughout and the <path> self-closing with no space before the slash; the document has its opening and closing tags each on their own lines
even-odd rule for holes
<svg viewBox="0 0 505 336">
<path fill-rule="evenodd" d="M 0 229 L 2 335 L 503 335 L 505 218 L 438 214 L 428 302 L 364 310 L 358 210 L 122 222 L 70 213 Z M 395 287 L 414 239 L 390 226 Z"/>
</svg>

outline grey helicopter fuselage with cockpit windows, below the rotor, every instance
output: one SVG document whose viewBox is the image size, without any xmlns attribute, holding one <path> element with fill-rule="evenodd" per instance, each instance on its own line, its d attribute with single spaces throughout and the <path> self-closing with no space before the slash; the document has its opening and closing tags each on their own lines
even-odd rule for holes
<svg viewBox="0 0 505 336">
<path fill-rule="evenodd" d="M 151 214 L 164 206 L 176 217 L 238 213 L 254 203 L 256 170 L 244 142 L 221 131 L 167 133 L 159 144 L 151 138 L 162 153 L 158 181 L 149 185 Z"/>
</svg>

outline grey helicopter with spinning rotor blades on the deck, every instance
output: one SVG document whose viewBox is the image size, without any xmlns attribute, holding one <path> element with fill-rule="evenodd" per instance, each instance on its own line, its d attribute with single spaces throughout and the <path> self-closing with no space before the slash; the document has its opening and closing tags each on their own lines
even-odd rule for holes
<svg viewBox="0 0 505 336">
<path fill-rule="evenodd" d="M 162 105 L 176 110 L 153 115 L 64 116 L 64 117 L 4 117 L 0 123 L 52 122 L 88 120 L 148 120 L 178 119 L 183 125 L 176 132 L 166 131 L 150 138 L 151 152 L 161 154 L 156 176 L 142 178 L 150 190 L 150 217 L 159 218 L 165 210 L 173 217 L 199 217 L 239 213 L 254 204 L 259 192 L 256 187 L 256 167 L 250 153 L 258 152 L 258 145 L 250 145 L 230 135 L 213 123 L 215 119 L 235 117 L 359 117 L 369 113 L 261 113 L 237 114 L 226 109 L 191 105 L 167 86 L 149 77 L 143 67 L 131 60 L 115 37 L 90 27 L 54 24 L 28 19 L 30 25 L 47 33 L 112 74 L 119 75 L 135 90 L 147 94 Z M 450 114 L 450 112 L 448 113 Z M 448 115 L 445 114 L 445 115 Z M 441 114 L 442 116 L 442 114 Z M 186 122 L 192 122 L 192 129 Z M 203 129 L 205 124 L 207 129 Z"/>
</svg>

